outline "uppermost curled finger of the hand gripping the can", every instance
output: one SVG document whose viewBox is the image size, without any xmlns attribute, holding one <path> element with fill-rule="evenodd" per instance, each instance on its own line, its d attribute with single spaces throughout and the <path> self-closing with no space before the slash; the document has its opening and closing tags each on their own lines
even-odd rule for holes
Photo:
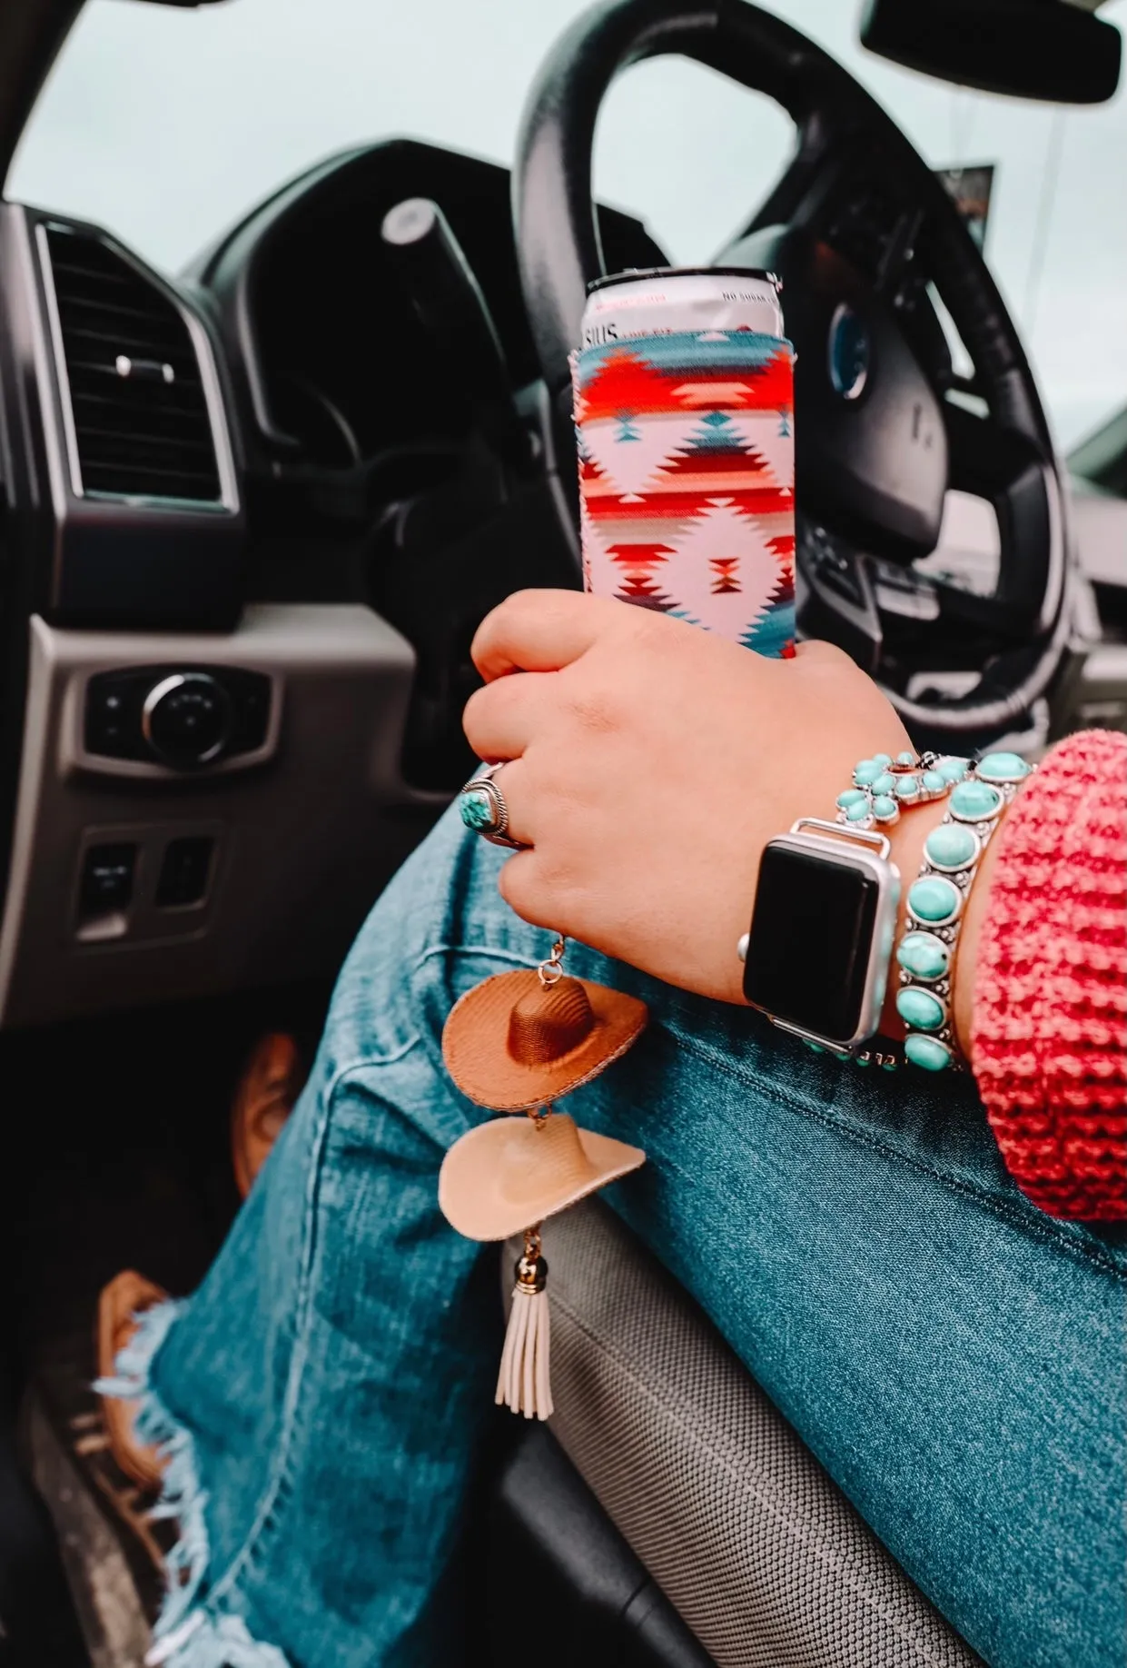
<svg viewBox="0 0 1127 1668">
<path fill-rule="evenodd" d="M 582 590 L 517 590 L 487 614 L 470 649 L 493 682 L 508 672 L 555 672 L 619 622 L 624 604 Z"/>
</svg>

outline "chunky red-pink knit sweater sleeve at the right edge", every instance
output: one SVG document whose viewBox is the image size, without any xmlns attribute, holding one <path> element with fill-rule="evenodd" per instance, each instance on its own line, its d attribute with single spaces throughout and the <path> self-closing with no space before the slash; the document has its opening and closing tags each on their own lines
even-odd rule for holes
<svg viewBox="0 0 1127 1668">
<path fill-rule="evenodd" d="M 1127 1218 L 1127 736 L 1069 736 L 1014 801 L 975 969 L 974 1074 L 1052 1216 Z"/>
</svg>

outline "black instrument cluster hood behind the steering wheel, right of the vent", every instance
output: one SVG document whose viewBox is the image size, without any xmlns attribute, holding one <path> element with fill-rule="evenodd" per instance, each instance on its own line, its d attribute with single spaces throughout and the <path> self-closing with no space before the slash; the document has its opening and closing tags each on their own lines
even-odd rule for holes
<svg viewBox="0 0 1127 1668">
<path fill-rule="evenodd" d="M 185 275 L 212 310 L 243 395 L 252 470 L 293 457 L 325 469 L 398 460 L 410 470 L 412 449 L 438 452 L 470 430 L 478 390 L 420 320 L 382 237 L 383 217 L 408 198 L 440 205 L 512 387 L 535 382 L 508 172 L 403 138 L 348 152 L 260 205 Z M 600 224 L 612 264 L 664 260 L 639 220 L 604 208 Z"/>
</svg>

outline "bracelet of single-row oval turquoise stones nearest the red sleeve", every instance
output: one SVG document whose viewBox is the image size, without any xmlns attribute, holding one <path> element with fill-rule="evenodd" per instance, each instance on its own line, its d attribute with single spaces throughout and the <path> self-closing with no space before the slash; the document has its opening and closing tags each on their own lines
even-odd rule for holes
<svg viewBox="0 0 1127 1668">
<path fill-rule="evenodd" d="M 1007 804 L 1034 771 L 1015 752 L 989 752 L 950 787 L 944 821 L 924 842 L 909 887 L 909 926 L 895 947 L 895 1007 L 907 1027 L 904 1058 L 924 1071 L 959 1066 L 952 1024 L 952 964 L 970 886 Z"/>
</svg>

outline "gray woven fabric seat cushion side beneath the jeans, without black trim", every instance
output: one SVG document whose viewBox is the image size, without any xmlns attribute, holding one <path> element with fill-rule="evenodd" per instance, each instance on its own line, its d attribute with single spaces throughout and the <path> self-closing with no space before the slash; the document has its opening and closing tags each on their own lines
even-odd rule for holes
<svg viewBox="0 0 1127 1668">
<path fill-rule="evenodd" d="M 545 1254 L 550 1428 L 719 1668 L 980 1663 L 605 1206 Z"/>
</svg>

